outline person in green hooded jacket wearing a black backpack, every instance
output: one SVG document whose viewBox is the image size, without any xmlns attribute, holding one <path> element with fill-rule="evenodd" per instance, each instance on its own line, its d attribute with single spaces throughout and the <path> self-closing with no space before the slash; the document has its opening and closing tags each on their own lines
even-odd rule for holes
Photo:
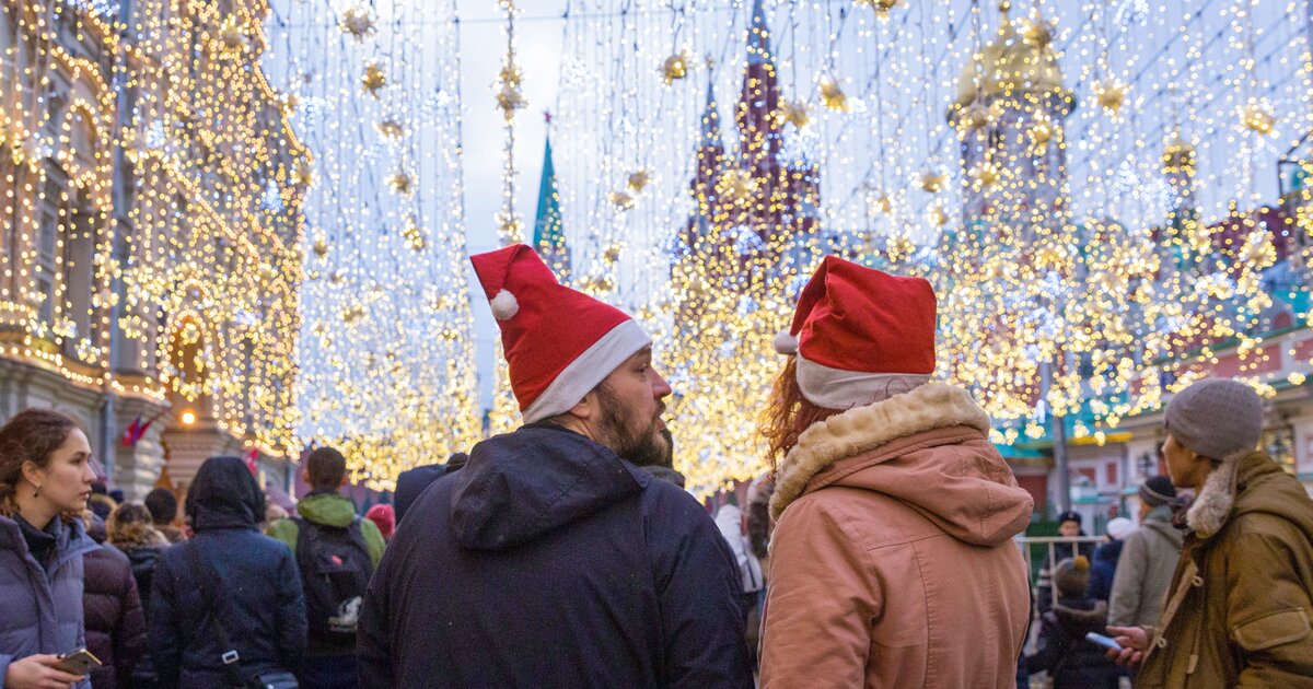
<svg viewBox="0 0 1313 689">
<path fill-rule="evenodd" d="M 309 495 L 297 517 L 278 520 L 268 534 L 297 556 L 306 593 L 310 647 L 297 679 L 301 686 L 356 686 L 356 622 L 369 577 L 383 558 L 378 526 L 360 518 L 339 491 L 347 486 L 347 459 L 332 448 L 306 457 Z"/>
</svg>

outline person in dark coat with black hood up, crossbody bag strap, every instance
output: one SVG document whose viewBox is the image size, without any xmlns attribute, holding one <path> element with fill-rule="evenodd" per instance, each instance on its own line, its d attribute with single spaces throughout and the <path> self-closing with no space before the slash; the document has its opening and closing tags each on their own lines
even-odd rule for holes
<svg viewBox="0 0 1313 689">
<path fill-rule="evenodd" d="M 264 493 L 236 457 L 211 457 L 186 493 L 196 537 L 165 550 L 155 566 L 150 652 L 156 686 L 223 686 L 225 648 L 215 616 L 239 655 L 239 673 L 295 671 L 306 648 L 301 574 L 288 546 L 261 535 Z M 225 610 L 207 613 L 202 581 L 192 567 L 198 549 L 201 576 L 213 583 Z"/>
</svg>

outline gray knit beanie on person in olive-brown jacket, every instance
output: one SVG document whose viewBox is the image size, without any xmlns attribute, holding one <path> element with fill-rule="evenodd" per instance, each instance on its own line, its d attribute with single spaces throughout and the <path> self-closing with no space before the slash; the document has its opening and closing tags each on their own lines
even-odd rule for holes
<svg viewBox="0 0 1313 689">
<path fill-rule="evenodd" d="M 1186 449 L 1222 461 L 1253 451 L 1263 434 L 1263 402 L 1247 385 L 1208 378 L 1167 403 L 1167 433 Z"/>
</svg>

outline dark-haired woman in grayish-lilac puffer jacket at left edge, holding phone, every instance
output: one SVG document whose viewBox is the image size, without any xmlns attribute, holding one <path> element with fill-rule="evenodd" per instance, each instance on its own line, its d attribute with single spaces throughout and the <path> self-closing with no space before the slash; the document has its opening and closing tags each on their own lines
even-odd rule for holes
<svg viewBox="0 0 1313 689">
<path fill-rule="evenodd" d="M 0 428 L 0 680 L 5 689 L 59 684 L 58 669 L 85 647 L 83 554 L 96 550 L 84 514 L 96 472 L 87 434 L 50 409 L 20 412 Z"/>
</svg>

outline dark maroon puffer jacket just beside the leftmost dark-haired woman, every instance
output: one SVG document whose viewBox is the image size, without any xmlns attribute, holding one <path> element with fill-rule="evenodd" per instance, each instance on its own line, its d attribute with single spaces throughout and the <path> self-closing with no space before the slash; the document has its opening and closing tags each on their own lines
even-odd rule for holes
<svg viewBox="0 0 1313 689">
<path fill-rule="evenodd" d="M 102 667 L 91 673 L 93 689 L 131 686 L 146 646 L 146 617 L 137 595 L 133 567 L 112 546 L 83 555 L 83 616 L 87 623 L 87 650 Z"/>
</svg>

